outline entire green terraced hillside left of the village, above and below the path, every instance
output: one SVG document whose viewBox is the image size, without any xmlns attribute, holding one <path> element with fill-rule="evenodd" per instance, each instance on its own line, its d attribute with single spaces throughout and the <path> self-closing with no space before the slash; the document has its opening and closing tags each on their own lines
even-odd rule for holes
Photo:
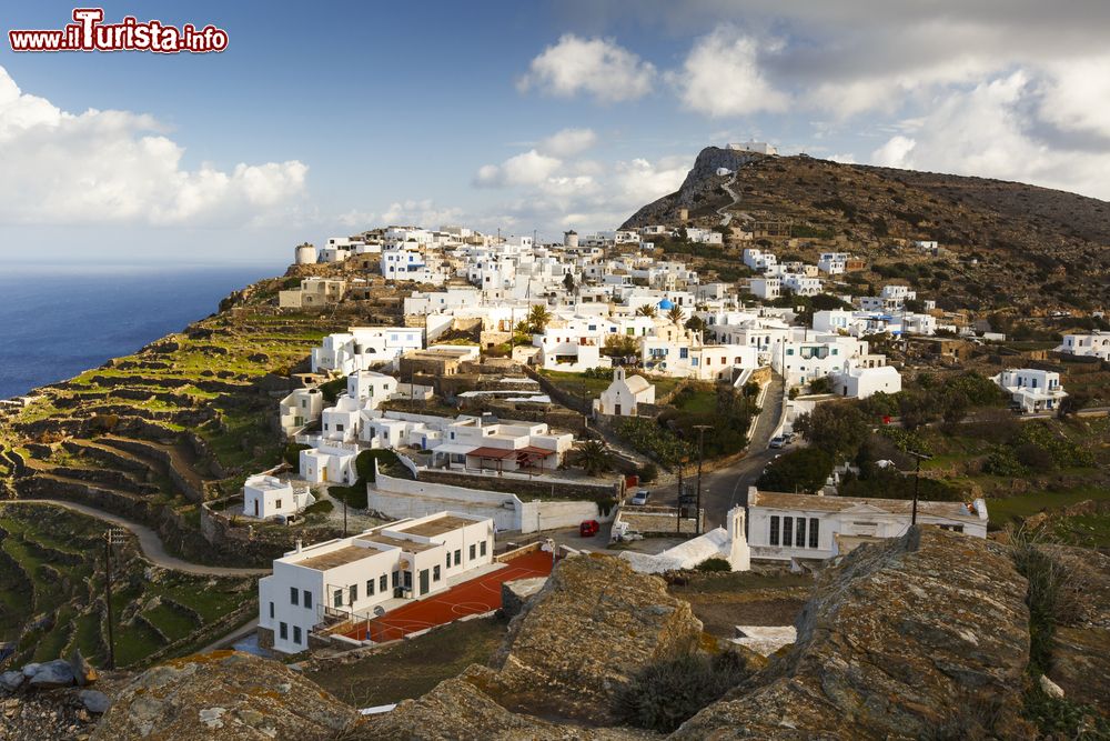
<svg viewBox="0 0 1110 741">
<path fill-rule="evenodd" d="M 330 525 L 312 518 L 295 528 L 235 523 L 238 541 L 200 527 L 202 502 L 238 493 L 249 474 L 281 461 L 278 401 L 293 388 L 290 373 L 307 370 L 312 348 L 395 308 L 360 301 L 365 306 L 333 313 L 283 314 L 271 301 L 280 283 L 248 287 L 180 333 L 39 389 L 23 409 L 0 409 L 0 642 L 14 652 L 9 662 L 73 648 L 103 659 L 98 538 L 107 525 L 57 507 L 4 507 L 3 499 L 92 507 L 147 525 L 170 554 L 200 564 L 269 565 L 296 538 L 331 537 Z M 165 571 L 134 544 L 124 552 L 121 665 L 211 642 L 256 611 L 253 579 Z M 3 657 L 0 650 L 0 663 Z"/>
</svg>

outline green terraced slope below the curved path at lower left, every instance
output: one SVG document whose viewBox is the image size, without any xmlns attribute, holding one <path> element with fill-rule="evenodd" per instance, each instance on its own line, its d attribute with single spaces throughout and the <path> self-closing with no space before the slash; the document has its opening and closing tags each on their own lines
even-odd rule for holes
<svg viewBox="0 0 1110 741">
<path fill-rule="evenodd" d="M 105 524 L 49 504 L 0 503 L 0 655 L 9 665 L 108 657 Z M 167 571 L 133 540 L 114 550 L 113 615 L 120 667 L 196 649 L 256 610 L 254 581 Z"/>
</svg>

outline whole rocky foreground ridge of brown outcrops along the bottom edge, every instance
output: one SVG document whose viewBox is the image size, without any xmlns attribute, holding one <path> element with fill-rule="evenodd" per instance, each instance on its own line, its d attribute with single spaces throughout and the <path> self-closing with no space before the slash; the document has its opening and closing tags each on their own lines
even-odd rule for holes
<svg viewBox="0 0 1110 741">
<path fill-rule="evenodd" d="M 1107 738 L 1107 567 L 934 528 L 860 548 L 820 578 L 797 643 L 749 662 L 672 738 Z M 281 664 L 218 654 L 140 675 L 94 738 L 662 738 L 622 725 L 614 700 L 646 668 L 724 650 L 660 579 L 578 557 L 514 618 L 493 668 L 393 712 L 360 719 Z"/>
</svg>

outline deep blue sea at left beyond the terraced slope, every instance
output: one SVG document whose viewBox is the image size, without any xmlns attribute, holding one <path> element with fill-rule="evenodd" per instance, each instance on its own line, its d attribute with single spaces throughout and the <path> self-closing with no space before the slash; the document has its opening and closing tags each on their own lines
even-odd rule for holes
<svg viewBox="0 0 1110 741">
<path fill-rule="evenodd" d="M 219 309 L 281 266 L 6 266 L 0 261 L 0 399 L 72 378 Z"/>
</svg>

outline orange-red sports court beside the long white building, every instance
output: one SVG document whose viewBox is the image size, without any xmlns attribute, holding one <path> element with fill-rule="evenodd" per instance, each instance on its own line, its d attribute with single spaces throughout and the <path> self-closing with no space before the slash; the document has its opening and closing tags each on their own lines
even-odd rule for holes
<svg viewBox="0 0 1110 741">
<path fill-rule="evenodd" d="M 369 625 L 359 627 L 346 635 L 363 641 L 366 640 L 369 632 L 370 640 L 381 643 L 466 615 L 490 612 L 501 607 L 501 585 L 504 582 L 546 577 L 551 572 L 552 554 L 546 551 L 532 551 L 506 561 L 502 569 L 465 581 L 440 594 L 400 607 L 381 618 L 374 618 Z"/>
</svg>

